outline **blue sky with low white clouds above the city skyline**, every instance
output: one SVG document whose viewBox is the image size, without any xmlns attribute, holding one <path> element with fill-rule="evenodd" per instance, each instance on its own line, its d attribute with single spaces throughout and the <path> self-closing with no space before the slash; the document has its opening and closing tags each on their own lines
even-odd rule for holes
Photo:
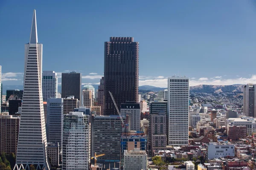
<svg viewBox="0 0 256 170">
<path fill-rule="evenodd" d="M 3 85 L 23 84 L 33 9 L 45 71 L 99 83 L 104 42 L 122 36 L 140 42 L 140 85 L 167 87 L 173 74 L 191 85 L 256 83 L 253 0 L 0 0 Z"/>
</svg>

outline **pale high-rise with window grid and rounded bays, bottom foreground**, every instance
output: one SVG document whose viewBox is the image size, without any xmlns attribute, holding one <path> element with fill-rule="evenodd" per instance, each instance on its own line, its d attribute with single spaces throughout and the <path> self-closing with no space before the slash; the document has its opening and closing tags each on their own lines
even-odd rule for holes
<svg viewBox="0 0 256 170">
<path fill-rule="evenodd" d="M 62 170 L 89 170 L 90 123 L 82 112 L 64 115 Z"/>
</svg>

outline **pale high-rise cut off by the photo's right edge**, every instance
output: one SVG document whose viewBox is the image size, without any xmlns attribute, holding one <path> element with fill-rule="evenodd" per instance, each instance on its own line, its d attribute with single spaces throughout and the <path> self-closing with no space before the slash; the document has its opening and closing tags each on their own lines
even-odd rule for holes
<svg viewBox="0 0 256 170">
<path fill-rule="evenodd" d="M 243 112 L 245 116 L 256 117 L 256 85 L 244 85 L 244 105 Z"/>
</svg>

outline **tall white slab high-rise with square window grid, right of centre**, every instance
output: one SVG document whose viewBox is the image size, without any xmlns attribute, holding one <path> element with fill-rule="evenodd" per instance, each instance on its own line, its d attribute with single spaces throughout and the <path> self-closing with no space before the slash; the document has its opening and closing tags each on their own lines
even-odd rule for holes
<svg viewBox="0 0 256 170">
<path fill-rule="evenodd" d="M 172 146 L 189 142 L 189 78 L 168 78 L 168 142 Z"/>
</svg>

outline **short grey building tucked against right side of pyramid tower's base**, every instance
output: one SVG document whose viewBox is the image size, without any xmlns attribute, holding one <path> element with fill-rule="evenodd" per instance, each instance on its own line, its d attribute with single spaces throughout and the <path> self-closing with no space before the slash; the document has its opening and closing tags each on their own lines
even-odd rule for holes
<svg viewBox="0 0 256 170">
<path fill-rule="evenodd" d="M 58 142 L 47 143 L 47 155 L 50 158 L 51 167 L 59 167 L 60 165 L 60 150 Z"/>
</svg>

